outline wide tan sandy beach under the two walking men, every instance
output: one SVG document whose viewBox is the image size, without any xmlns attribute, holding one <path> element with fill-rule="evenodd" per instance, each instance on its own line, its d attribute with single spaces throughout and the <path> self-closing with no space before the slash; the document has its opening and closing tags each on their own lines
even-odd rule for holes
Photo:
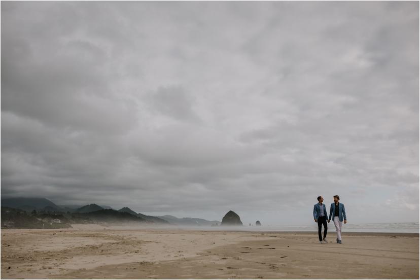
<svg viewBox="0 0 420 280">
<path fill-rule="evenodd" d="M 1 278 L 419 278 L 418 234 L 2 230 Z"/>
</svg>

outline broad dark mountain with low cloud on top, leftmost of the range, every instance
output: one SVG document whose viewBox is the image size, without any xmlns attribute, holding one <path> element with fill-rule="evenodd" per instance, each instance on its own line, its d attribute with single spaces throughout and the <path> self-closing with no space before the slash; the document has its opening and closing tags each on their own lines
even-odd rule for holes
<svg viewBox="0 0 420 280">
<path fill-rule="evenodd" d="M 60 208 L 47 198 L 40 197 L 2 198 L 1 204 L 2 206 L 22 209 L 28 212 L 31 212 L 34 209 L 44 209 L 45 207 L 47 207 L 46 211 L 57 211 Z"/>
</svg>

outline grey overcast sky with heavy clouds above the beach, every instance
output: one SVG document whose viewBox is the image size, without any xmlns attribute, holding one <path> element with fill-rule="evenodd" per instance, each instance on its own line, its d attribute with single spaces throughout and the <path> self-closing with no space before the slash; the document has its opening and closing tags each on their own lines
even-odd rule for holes
<svg viewBox="0 0 420 280">
<path fill-rule="evenodd" d="M 418 222 L 418 5 L 2 2 L 2 197 Z"/>
</svg>

